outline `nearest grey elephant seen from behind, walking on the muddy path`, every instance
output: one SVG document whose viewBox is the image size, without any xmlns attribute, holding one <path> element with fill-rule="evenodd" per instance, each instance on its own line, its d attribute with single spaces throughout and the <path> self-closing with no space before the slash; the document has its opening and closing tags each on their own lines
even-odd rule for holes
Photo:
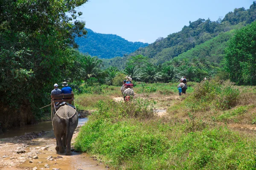
<svg viewBox="0 0 256 170">
<path fill-rule="evenodd" d="M 77 124 L 78 113 L 72 105 L 67 103 L 66 105 L 62 105 L 55 114 L 52 115 L 52 128 L 56 138 L 55 150 L 57 153 L 65 153 L 64 148 L 67 146 L 66 155 L 72 155 L 71 139 Z"/>
</svg>

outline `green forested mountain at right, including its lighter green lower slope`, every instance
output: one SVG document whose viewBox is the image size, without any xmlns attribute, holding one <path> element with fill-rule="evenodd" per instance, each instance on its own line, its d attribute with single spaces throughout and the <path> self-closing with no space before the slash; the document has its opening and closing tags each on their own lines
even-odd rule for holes
<svg viewBox="0 0 256 170">
<path fill-rule="evenodd" d="M 219 63 L 224 56 L 227 41 L 233 36 L 232 30 L 239 29 L 252 23 L 256 19 L 256 3 L 249 9 L 235 8 L 225 15 L 223 20 L 211 21 L 199 18 L 189 21 L 181 31 L 169 34 L 166 38 L 158 38 L 145 48 L 129 54 L 128 57 L 104 59 L 105 67 L 116 66 L 123 69 L 129 56 L 142 54 L 150 59 L 154 65 L 172 60 L 174 57 L 184 60 L 192 58 L 206 58 L 209 62 Z M 176 59 L 177 60 L 177 59 Z M 186 59 L 185 59 L 186 60 Z"/>
</svg>

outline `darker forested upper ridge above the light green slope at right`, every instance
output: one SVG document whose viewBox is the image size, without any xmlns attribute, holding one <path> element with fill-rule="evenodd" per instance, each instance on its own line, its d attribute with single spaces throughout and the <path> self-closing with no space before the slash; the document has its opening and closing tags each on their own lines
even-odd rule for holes
<svg viewBox="0 0 256 170">
<path fill-rule="evenodd" d="M 131 56 L 142 54 L 151 59 L 154 64 L 160 64 L 177 57 L 179 54 L 210 40 L 221 32 L 241 28 L 256 19 L 256 3 L 249 9 L 235 8 L 233 12 L 225 15 L 223 20 L 211 21 L 209 18 L 189 21 L 189 26 L 184 26 L 181 31 L 169 34 L 166 38 L 160 37 L 145 48 L 140 48 Z"/>
</svg>

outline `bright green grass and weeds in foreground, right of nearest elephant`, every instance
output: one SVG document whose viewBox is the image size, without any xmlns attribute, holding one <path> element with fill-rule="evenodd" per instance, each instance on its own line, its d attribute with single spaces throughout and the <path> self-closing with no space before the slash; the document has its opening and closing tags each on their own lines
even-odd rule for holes
<svg viewBox="0 0 256 170">
<path fill-rule="evenodd" d="M 100 101 L 75 148 L 123 170 L 255 169 L 255 136 L 204 122 L 161 119 L 146 99 Z M 239 111 L 238 111 L 239 114 Z"/>
</svg>

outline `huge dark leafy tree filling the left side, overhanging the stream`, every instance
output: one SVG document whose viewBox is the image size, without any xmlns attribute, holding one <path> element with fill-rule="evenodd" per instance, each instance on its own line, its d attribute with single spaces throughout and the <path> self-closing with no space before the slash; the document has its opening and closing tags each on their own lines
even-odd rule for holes
<svg viewBox="0 0 256 170">
<path fill-rule="evenodd" d="M 74 66 L 76 56 L 70 47 L 77 47 L 74 37 L 86 34 L 85 22 L 76 20 L 82 14 L 76 8 L 86 2 L 0 1 L 1 105 L 15 106 L 15 113 L 29 115 L 16 125 L 30 121 L 31 112 L 40 117 L 38 108 L 49 103 L 52 85 L 61 83 L 70 73 L 67 70 Z M 27 111 L 20 109 L 24 105 Z M 14 112 L 12 109 L 7 110 Z M 0 119 L 8 119 L 9 114 L 12 115 L 4 112 Z"/>
</svg>

